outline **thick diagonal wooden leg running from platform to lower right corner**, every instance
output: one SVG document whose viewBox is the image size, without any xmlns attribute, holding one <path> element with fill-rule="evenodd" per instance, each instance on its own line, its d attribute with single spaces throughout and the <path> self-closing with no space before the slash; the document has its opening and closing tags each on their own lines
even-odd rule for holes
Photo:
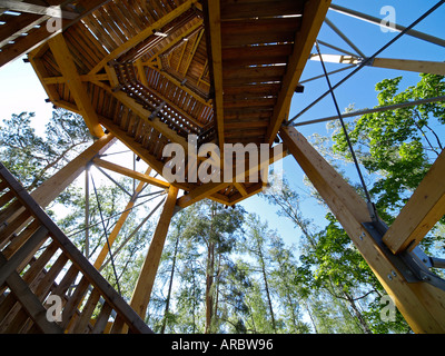
<svg viewBox="0 0 445 356">
<path fill-rule="evenodd" d="M 293 127 L 279 136 L 415 333 L 445 333 L 445 291 L 425 281 L 407 283 L 363 227 L 370 220 L 366 202 Z M 390 278 L 388 278 L 388 276 Z"/>
</svg>

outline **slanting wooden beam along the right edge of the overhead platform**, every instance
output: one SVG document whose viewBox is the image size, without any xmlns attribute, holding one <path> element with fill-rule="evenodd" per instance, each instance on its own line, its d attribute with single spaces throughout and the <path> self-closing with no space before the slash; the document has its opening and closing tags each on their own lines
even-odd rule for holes
<svg viewBox="0 0 445 356">
<path fill-rule="evenodd" d="M 267 142 L 271 145 L 277 136 L 281 122 L 289 115 L 290 101 L 298 85 L 307 59 L 317 39 L 323 21 L 329 9 L 330 0 L 307 1 L 305 4 L 301 29 L 295 37 L 294 52 L 289 58 L 287 71 L 278 95 L 274 115 L 267 130 Z"/>
</svg>

